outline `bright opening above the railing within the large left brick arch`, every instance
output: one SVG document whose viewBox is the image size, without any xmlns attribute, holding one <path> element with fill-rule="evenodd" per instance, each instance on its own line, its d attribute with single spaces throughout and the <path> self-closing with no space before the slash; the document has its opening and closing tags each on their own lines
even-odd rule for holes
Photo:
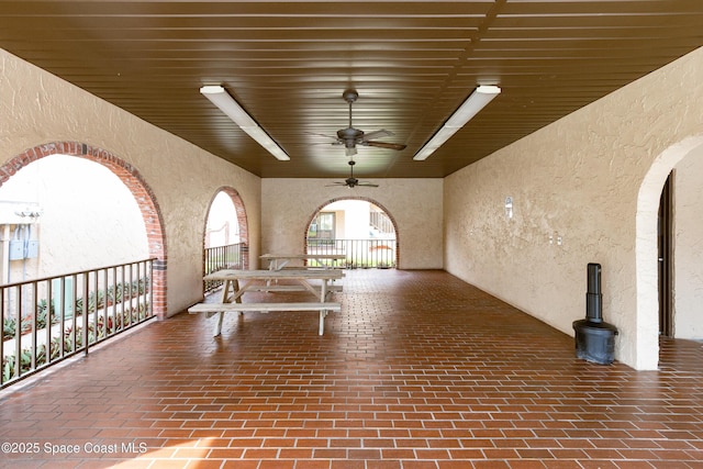
<svg viewBox="0 0 703 469">
<path fill-rule="evenodd" d="M 146 228 L 130 190 L 85 158 L 52 155 L 22 168 L 0 187 L 0 210 L 9 254 L 3 283 L 148 258 Z M 27 243 L 31 249 L 16 253 Z"/>
</svg>

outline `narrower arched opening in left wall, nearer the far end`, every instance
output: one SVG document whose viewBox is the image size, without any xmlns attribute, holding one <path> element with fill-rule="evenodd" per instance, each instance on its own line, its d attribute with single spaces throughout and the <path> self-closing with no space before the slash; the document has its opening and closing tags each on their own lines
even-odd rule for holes
<svg viewBox="0 0 703 469">
<path fill-rule="evenodd" d="M 246 210 L 239 193 L 220 188 L 208 209 L 203 239 L 203 272 L 249 267 L 249 237 Z M 205 293 L 221 282 L 205 282 Z"/>
</svg>

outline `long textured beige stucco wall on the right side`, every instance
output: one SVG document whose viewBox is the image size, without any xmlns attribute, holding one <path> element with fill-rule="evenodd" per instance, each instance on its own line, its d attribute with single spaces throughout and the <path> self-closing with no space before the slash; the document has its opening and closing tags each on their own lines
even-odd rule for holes
<svg viewBox="0 0 703 469">
<path fill-rule="evenodd" d="M 616 358 L 656 368 L 656 210 L 677 159 L 659 156 L 703 135 L 701 102 L 703 49 L 447 177 L 445 268 L 573 334 L 587 264 L 600 263 Z"/>
</svg>

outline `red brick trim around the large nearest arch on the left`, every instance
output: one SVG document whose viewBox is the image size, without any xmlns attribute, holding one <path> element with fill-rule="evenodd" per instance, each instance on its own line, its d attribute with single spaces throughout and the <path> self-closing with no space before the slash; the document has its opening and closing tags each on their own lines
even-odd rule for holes
<svg viewBox="0 0 703 469">
<path fill-rule="evenodd" d="M 110 169 L 130 189 L 144 219 L 149 257 L 156 259 L 152 271 L 154 314 L 159 320 L 166 319 L 168 312 L 166 302 L 166 235 L 161 211 L 152 188 L 140 171 L 125 160 L 108 150 L 80 142 L 52 142 L 26 149 L 0 166 L 0 186 L 31 163 L 52 155 L 76 156 L 98 163 Z"/>
</svg>

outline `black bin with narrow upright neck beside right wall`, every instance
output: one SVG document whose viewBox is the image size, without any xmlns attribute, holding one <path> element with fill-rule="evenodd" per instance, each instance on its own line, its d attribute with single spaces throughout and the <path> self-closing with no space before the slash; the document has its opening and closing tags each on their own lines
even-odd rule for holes
<svg viewBox="0 0 703 469">
<path fill-rule="evenodd" d="M 615 355 L 617 328 L 603 322 L 601 294 L 601 265 L 588 265 L 585 320 L 573 322 L 576 356 L 594 364 L 610 365 Z"/>
</svg>

